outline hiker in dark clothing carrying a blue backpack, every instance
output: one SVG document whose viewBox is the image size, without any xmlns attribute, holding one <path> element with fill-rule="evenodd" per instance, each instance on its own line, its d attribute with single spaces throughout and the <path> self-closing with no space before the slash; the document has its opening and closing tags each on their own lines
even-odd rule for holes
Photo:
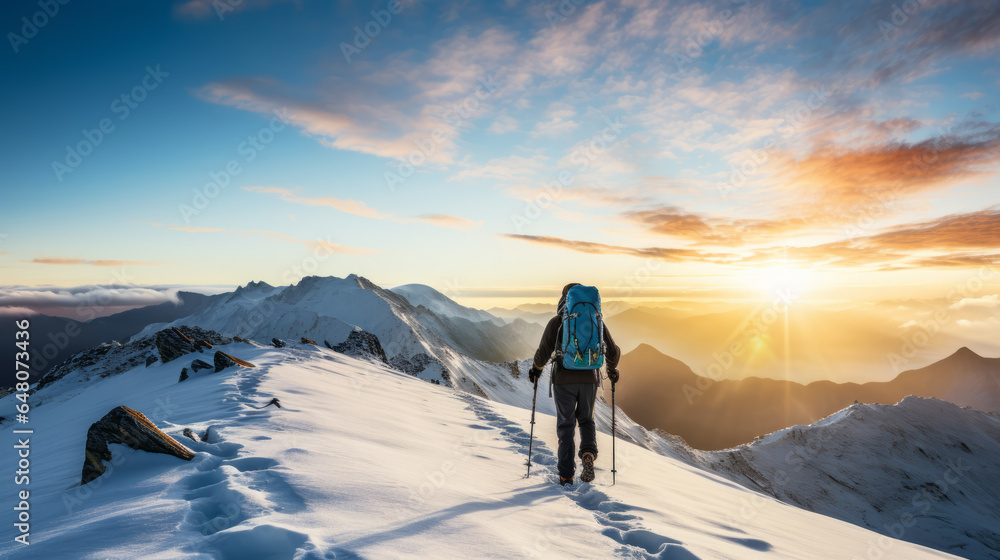
<svg viewBox="0 0 1000 560">
<path fill-rule="evenodd" d="M 608 379 L 617 383 L 618 360 L 621 350 L 615 344 L 600 312 L 597 288 L 567 284 L 559 299 L 558 314 L 549 320 L 528 379 L 536 383 L 542 368 L 552 358 L 552 388 L 556 403 L 556 434 L 559 437 L 559 484 L 573 484 L 576 471 L 574 431 L 580 424 L 580 459 L 583 472 L 580 480 L 594 480 L 597 459 L 597 428 L 594 424 L 594 404 L 601 381 L 600 367 L 607 360 Z M 567 306 L 567 303 L 569 305 Z M 592 320 L 587 320 L 592 317 Z M 597 332 L 592 332 L 596 328 Z M 564 337 L 568 329 L 571 336 Z M 603 331 L 603 340 L 600 332 Z M 603 342 L 603 344 L 602 344 Z M 569 366 L 569 367 L 567 367 Z"/>
</svg>

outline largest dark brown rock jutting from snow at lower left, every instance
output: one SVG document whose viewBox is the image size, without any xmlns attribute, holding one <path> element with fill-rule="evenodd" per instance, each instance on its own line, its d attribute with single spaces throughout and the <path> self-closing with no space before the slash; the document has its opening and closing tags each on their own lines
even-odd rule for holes
<svg viewBox="0 0 1000 560">
<path fill-rule="evenodd" d="M 194 451 L 163 433 L 141 412 L 119 406 L 111 409 L 87 430 L 87 448 L 84 451 L 80 484 L 87 484 L 104 474 L 104 461 L 111 460 L 109 443 L 120 443 L 150 453 L 166 453 L 185 461 L 194 458 Z"/>
</svg>

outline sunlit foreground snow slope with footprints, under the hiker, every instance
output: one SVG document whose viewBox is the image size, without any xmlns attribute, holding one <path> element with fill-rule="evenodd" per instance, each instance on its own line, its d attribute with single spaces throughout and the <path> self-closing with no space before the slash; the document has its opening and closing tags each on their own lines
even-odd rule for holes
<svg viewBox="0 0 1000 560">
<path fill-rule="evenodd" d="M 595 483 L 562 489 L 545 414 L 526 479 L 523 408 L 311 345 L 221 350 L 258 367 L 177 383 L 195 354 L 42 389 L 31 412 L 33 544 L 14 543 L 5 523 L 0 557 L 805 560 L 864 558 L 880 539 L 621 440 L 610 486 L 606 433 Z M 259 408 L 274 397 L 283 408 Z M 117 447 L 117 464 L 78 486 L 88 427 L 122 404 L 196 457 Z M 0 400 L 0 415 L 12 406 Z M 185 427 L 207 429 L 208 441 L 185 439 Z M 5 441 L 11 429 L 0 427 Z M 0 486 L 0 501 L 14 491 Z M 890 542 L 882 558 L 951 558 Z"/>
</svg>

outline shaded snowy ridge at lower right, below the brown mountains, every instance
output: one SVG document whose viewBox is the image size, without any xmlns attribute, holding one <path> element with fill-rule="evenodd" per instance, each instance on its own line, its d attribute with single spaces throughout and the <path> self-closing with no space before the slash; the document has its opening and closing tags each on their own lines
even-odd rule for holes
<svg viewBox="0 0 1000 560">
<path fill-rule="evenodd" d="M 1000 415 L 907 397 L 855 404 L 730 450 L 677 449 L 786 503 L 966 558 L 1000 559 Z"/>
</svg>

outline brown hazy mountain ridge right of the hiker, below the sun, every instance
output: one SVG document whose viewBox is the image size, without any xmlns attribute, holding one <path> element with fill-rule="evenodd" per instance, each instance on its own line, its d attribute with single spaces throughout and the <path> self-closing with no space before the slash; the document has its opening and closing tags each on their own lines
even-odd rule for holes
<svg viewBox="0 0 1000 560">
<path fill-rule="evenodd" d="M 810 424 L 855 401 L 892 404 L 916 395 L 1000 411 L 1000 359 L 968 348 L 892 381 L 864 384 L 803 385 L 758 377 L 716 381 L 649 345 L 623 356 L 620 369 L 618 406 L 640 425 L 680 436 L 697 449 L 723 449 Z"/>
</svg>

